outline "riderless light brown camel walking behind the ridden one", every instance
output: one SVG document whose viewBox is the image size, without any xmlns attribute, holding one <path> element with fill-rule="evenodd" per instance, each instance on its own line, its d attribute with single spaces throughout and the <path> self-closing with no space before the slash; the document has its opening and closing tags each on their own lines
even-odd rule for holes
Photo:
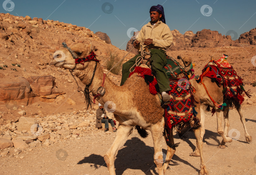
<svg viewBox="0 0 256 175">
<path fill-rule="evenodd" d="M 183 60 L 183 61 L 182 61 Z M 192 63 L 192 58 L 189 57 L 183 57 L 182 59 L 178 60 L 180 65 L 185 68 L 186 71 L 189 71 L 190 65 Z M 200 99 L 201 102 L 201 138 L 203 139 L 204 133 L 205 133 L 205 128 L 204 128 L 204 121 L 205 121 L 205 116 L 204 112 L 207 106 L 210 106 L 211 108 L 214 108 L 216 110 L 216 115 L 217 115 L 217 132 L 222 136 L 222 142 L 219 145 L 219 148 L 225 148 L 225 143 L 226 142 L 232 142 L 232 138 L 230 138 L 228 134 L 229 130 L 229 105 L 223 106 L 223 111 L 222 109 L 217 108 L 213 102 L 211 101 L 210 97 L 207 95 L 206 90 L 204 89 L 204 86 L 201 83 L 197 83 L 195 78 L 192 78 L 189 80 L 191 85 L 196 89 L 196 96 Z M 215 82 L 211 82 L 211 79 L 208 77 L 204 77 L 203 83 L 206 86 L 210 96 L 213 98 L 213 100 L 217 104 L 222 104 L 223 103 L 223 94 L 222 90 L 223 87 L 218 87 L 218 85 Z M 241 107 L 237 109 L 238 114 L 240 115 L 241 122 L 244 126 L 244 131 L 245 131 L 245 138 L 247 142 L 252 142 L 252 137 L 248 134 L 246 126 L 245 126 L 245 118 L 242 113 Z M 222 116 L 224 117 L 224 131 L 222 128 Z M 200 156 L 199 151 L 196 148 L 193 153 L 190 154 L 191 156 Z"/>
</svg>

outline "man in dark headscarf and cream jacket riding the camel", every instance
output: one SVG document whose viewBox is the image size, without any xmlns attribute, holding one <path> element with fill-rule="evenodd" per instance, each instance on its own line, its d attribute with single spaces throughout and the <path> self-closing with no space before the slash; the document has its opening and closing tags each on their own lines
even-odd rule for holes
<svg viewBox="0 0 256 175">
<path fill-rule="evenodd" d="M 139 49 L 139 53 L 145 50 L 147 46 L 150 50 L 150 64 L 160 92 L 162 93 L 162 100 L 165 104 L 170 101 L 170 96 L 166 91 L 171 90 L 169 79 L 162 68 L 167 63 L 166 48 L 169 48 L 173 42 L 173 35 L 169 27 L 165 24 L 165 16 L 162 5 L 152 6 L 149 10 L 151 21 L 144 25 L 136 37 L 133 46 Z M 145 40 L 145 41 L 144 41 Z M 141 42 L 144 41 L 144 42 Z M 142 48 L 140 48 L 140 44 Z M 124 85 L 126 79 L 129 77 L 130 68 L 135 64 L 139 55 L 134 56 L 129 61 L 123 64 L 121 86 Z M 134 68 L 131 70 L 133 71 Z"/>
</svg>

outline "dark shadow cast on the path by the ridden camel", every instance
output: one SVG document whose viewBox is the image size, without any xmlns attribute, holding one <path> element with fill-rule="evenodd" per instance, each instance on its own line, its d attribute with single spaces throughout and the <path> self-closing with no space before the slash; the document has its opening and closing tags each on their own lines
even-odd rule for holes
<svg viewBox="0 0 256 175">
<path fill-rule="evenodd" d="M 152 175 L 152 172 L 158 174 L 155 170 L 156 166 L 153 160 L 154 147 L 145 145 L 145 143 L 137 137 L 132 137 L 130 140 L 127 140 L 124 146 L 125 147 L 118 151 L 115 159 L 115 168 L 117 174 L 123 174 L 126 169 L 141 170 L 147 175 Z M 167 153 L 166 149 L 162 150 L 164 154 Z M 196 171 L 199 171 L 199 169 L 195 168 L 189 162 L 181 159 L 175 154 L 169 163 L 169 166 L 179 165 L 179 162 L 191 166 Z M 96 154 L 91 154 L 88 157 L 84 157 L 84 159 L 80 160 L 77 164 L 84 163 L 94 164 L 91 166 L 93 166 L 95 170 L 99 169 L 101 166 L 106 166 L 103 156 Z"/>
</svg>

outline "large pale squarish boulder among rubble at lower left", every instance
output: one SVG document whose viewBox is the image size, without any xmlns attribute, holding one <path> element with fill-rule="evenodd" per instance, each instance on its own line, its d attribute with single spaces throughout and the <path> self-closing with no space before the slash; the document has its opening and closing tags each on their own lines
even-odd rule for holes
<svg viewBox="0 0 256 175">
<path fill-rule="evenodd" d="M 21 117 L 19 121 L 17 122 L 17 130 L 18 131 L 34 131 L 34 128 L 31 128 L 34 126 L 34 124 L 38 124 L 37 120 L 35 118 L 29 118 L 29 117 Z"/>
</svg>

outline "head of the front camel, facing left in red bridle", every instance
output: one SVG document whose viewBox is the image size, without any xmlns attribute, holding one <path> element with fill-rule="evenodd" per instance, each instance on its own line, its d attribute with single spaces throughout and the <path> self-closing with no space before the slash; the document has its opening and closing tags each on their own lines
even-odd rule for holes
<svg viewBox="0 0 256 175">
<path fill-rule="evenodd" d="M 92 51 L 92 44 L 77 43 L 73 46 L 70 46 L 70 49 L 73 51 L 74 55 L 77 56 L 77 58 L 84 58 L 90 55 Z M 75 59 L 73 58 L 70 51 L 63 47 L 60 50 L 54 52 L 52 61 L 49 64 L 56 67 L 63 67 L 65 69 L 74 69 L 75 67 L 75 69 L 84 69 L 88 66 L 88 62 L 83 62 L 84 65 L 77 64 L 76 66 Z"/>
</svg>

